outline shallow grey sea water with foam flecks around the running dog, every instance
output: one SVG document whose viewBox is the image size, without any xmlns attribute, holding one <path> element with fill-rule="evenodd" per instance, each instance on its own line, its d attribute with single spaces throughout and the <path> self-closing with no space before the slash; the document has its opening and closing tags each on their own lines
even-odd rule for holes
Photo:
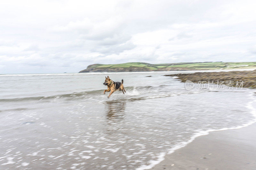
<svg viewBox="0 0 256 170">
<path fill-rule="evenodd" d="M 148 169 L 196 136 L 255 120 L 254 90 L 187 91 L 162 76 L 175 73 L 0 76 L 0 169 Z M 103 95 L 107 75 L 125 95 Z"/>
</svg>

